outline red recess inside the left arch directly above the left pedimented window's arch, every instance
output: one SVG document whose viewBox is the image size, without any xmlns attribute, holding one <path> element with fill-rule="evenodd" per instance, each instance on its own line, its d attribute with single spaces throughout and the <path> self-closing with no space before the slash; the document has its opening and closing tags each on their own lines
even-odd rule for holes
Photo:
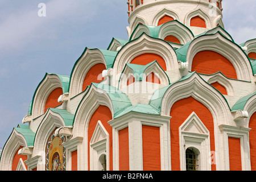
<svg viewBox="0 0 256 182">
<path fill-rule="evenodd" d="M 105 64 L 99 63 L 94 65 L 90 70 L 86 73 L 86 76 L 84 78 L 84 84 L 82 84 L 82 90 L 85 90 L 88 85 L 90 85 L 92 82 L 99 83 L 104 78 L 102 77 L 102 71 L 106 69 Z M 99 78 L 98 78 L 99 77 Z"/>
</svg>

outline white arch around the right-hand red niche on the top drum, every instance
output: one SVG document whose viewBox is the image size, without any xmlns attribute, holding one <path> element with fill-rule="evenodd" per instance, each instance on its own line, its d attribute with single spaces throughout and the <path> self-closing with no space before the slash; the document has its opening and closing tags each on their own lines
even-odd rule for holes
<svg viewBox="0 0 256 182">
<path fill-rule="evenodd" d="M 185 15 L 184 24 L 185 26 L 190 27 L 191 18 L 199 16 L 205 21 L 206 28 L 211 29 L 212 28 L 212 22 L 209 19 L 208 13 L 205 13 L 201 9 L 193 10 L 189 12 L 187 15 Z"/>
</svg>

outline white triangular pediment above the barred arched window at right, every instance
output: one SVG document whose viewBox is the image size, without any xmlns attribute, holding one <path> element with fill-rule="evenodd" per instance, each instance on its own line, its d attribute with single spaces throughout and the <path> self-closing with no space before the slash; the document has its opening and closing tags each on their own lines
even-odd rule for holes
<svg viewBox="0 0 256 182">
<path fill-rule="evenodd" d="M 204 123 L 195 112 L 192 112 L 189 115 L 189 117 L 180 126 L 180 130 L 189 133 L 209 134 L 209 130 L 205 127 Z"/>
</svg>

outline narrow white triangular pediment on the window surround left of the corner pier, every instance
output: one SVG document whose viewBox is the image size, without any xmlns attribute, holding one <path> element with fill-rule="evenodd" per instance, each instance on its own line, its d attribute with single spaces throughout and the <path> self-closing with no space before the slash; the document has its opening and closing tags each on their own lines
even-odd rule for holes
<svg viewBox="0 0 256 182">
<path fill-rule="evenodd" d="M 101 140 L 104 140 L 108 137 L 108 135 L 109 135 L 108 131 L 106 131 L 105 127 L 102 125 L 101 121 L 99 120 L 93 132 L 90 143 L 93 144 Z"/>
</svg>

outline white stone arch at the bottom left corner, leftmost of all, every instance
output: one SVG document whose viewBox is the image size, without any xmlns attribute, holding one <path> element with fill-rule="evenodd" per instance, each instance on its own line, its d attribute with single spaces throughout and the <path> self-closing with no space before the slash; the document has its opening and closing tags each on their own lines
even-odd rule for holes
<svg viewBox="0 0 256 182">
<path fill-rule="evenodd" d="M 18 151 L 20 146 L 28 147 L 26 139 L 22 134 L 18 133 L 18 131 L 13 129 L 13 132 L 11 133 L 10 137 L 5 143 L 5 146 L 3 147 L 0 161 L 1 169 L 5 171 L 11 171 L 13 167 L 14 155 L 16 154 L 16 151 Z"/>
</svg>

